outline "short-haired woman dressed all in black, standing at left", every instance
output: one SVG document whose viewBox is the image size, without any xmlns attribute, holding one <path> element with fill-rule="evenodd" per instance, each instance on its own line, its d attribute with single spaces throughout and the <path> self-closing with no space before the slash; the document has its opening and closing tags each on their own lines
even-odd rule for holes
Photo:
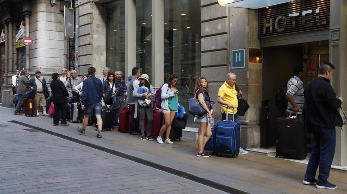
<svg viewBox="0 0 347 194">
<path fill-rule="evenodd" d="M 68 126 L 66 123 L 66 102 L 69 93 L 67 92 L 64 83 L 60 81 L 59 73 L 52 73 L 52 102 L 54 104 L 54 113 L 53 113 L 53 126 L 59 125 L 59 115 L 61 113 L 61 122 L 63 126 Z"/>
</svg>

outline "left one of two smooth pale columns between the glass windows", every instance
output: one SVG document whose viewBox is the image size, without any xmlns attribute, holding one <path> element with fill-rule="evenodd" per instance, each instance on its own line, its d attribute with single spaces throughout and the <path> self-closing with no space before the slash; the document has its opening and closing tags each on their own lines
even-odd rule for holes
<svg viewBox="0 0 347 194">
<path fill-rule="evenodd" d="M 152 38 L 154 38 L 153 35 L 152 35 Z M 129 75 L 132 74 L 133 67 L 136 67 L 136 4 L 134 0 L 126 0 L 125 1 L 125 78 L 127 78 Z"/>
</svg>

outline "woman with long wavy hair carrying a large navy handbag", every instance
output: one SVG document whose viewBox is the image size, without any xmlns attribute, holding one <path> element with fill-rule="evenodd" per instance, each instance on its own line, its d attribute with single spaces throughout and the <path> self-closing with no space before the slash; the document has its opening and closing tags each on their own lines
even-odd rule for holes
<svg viewBox="0 0 347 194">
<path fill-rule="evenodd" d="M 204 152 L 204 147 L 212 135 L 211 125 L 209 120 L 212 120 L 214 112 L 211 113 L 211 107 L 205 104 L 205 101 L 210 102 L 209 84 L 206 78 L 200 77 L 196 82 L 195 95 L 199 100 L 200 105 L 206 111 L 202 117 L 196 117 L 195 120 L 199 123 L 199 135 L 197 138 L 197 157 L 210 157 L 209 153 Z M 209 103 L 210 104 L 210 103 Z"/>
</svg>

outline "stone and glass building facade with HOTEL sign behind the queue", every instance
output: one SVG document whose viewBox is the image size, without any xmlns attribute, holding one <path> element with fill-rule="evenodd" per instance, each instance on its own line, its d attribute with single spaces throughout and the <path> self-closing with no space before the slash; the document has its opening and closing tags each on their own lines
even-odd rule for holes
<svg viewBox="0 0 347 194">
<path fill-rule="evenodd" d="M 259 9 L 224 7 L 217 0 L 75 0 L 74 39 L 64 36 L 64 5 L 71 7 L 71 2 L 0 2 L 0 28 L 5 32 L 2 106 L 11 105 L 10 77 L 22 67 L 41 70 L 50 80 L 50 74 L 62 67 L 75 68 L 83 75 L 89 66 L 96 68 L 97 76 L 107 66 L 112 72 L 122 71 L 126 79 L 137 66 L 150 76 L 155 88 L 176 73 L 179 103 L 186 110 L 198 77 L 208 80 L 210 97 L 217 102 L 226 74 L 234 72 L 250 105 L 241 117 L 241 142 L 253 148 L 260 147 L 264 100 L 269 100 L 270 107 L 267 136 L 270 145 L 276 145 L 274 123 L 281 112 L 274 105 L 274 96 L 293 76 L 294 66 L 303 64 L 306 84 L 317 75 L 321 62 L 329 60 L 336 67 L 331 84 L 338 96 L 347 98 L 344 0 L 295 0 Z M 23 21 L 29 32 L 25 35 L 34 42 L 22 48 L 16 47 L 20 40 L 16 36 Z M 24 50 L 25 63 L 20 57 Z M 346 103 L 342 108 L 347 110 Z M 216 112 L 220 112 L 218 104 Z M 197 127 L 192 117 L 188 126 Z M 346 166 L 346 125 L 343 128 L 346 130 L 337 129 L 333 163 Z M 310 141 L 308 135 L 308 148 Z"/>
</svg>

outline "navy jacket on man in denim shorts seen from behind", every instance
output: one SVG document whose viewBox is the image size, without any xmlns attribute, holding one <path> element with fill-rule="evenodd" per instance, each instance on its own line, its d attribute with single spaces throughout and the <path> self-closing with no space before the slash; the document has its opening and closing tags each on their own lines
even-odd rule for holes
<svg viewBox="0 0 347 194">
<path fill-rule="evenodd" d="M 89 76 L 88 79 L 83 81 L 82 93 L 82 105 L 101 102 L 102 83 L 100 79 L 95 78 L 95 75 Z"/>
</svg>

